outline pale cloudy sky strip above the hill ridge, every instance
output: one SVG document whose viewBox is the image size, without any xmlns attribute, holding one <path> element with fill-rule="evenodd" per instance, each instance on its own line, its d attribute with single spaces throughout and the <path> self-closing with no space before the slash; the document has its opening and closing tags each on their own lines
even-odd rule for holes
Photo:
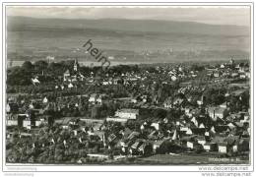
<svg viewBox="0 0 256 177">
<path fill-rule="evenodd" d="M 250 26 L 250 8 L 233 7 L 67 7 L 12 6 L 7 16 L 60 19 L 131 19 L 196 22 L 211 25 Z"/>
</svg>

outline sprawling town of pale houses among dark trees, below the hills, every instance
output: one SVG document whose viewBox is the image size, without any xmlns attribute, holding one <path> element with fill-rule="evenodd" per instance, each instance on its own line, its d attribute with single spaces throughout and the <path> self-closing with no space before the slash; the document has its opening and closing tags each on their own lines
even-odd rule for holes
<svg viewBox="0 0 256 177">
<path fill-rule="evenodd" d="M 52 56 L 8 68 L 6 161 L 249 163 L 249 60 L 98 71 Z"/>
</svg>

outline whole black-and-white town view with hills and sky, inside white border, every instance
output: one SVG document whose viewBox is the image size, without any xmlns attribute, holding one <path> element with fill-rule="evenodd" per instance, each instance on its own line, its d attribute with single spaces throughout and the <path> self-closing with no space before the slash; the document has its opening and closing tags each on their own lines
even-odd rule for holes
<svg viewBox="0 0 256 177">
<path fill-rule="evenodd" d="M 248 8 L 56 8 L 6 10 L 7 163 L 250 163 Z"/>
</svg>

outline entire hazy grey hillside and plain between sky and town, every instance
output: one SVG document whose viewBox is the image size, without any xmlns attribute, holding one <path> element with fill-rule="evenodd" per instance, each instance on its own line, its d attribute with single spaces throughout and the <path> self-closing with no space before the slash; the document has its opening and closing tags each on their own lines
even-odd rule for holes
<svg viewBox="0 0 256 177">
<path fill-rule="evenodd" d="M 244 59 L 250 52 L 248 27 L 191 22 L 8 17 L 7 35 L 9 60 L 53 55 L 91 61 L 82 47 L 89 39 L 118 62 Z"/>
</svg>

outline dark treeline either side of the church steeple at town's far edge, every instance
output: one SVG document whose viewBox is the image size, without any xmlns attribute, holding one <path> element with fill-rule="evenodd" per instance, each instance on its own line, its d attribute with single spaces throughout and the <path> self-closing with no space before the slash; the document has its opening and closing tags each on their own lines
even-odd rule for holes
<svg viewBox="0 0 256 177">
<path fill-rule="evenodd" d="M 22 66 L 17 66 L 8 69 L 7 71 L 7 85 L 9 86 L 28 86 L 32 85 L 32 77 L 38 76 L 39 81 L 42 83 L 50 83 L 62 77 L 66 70 L 73 72 L 74 60 L 67 60 L 61 62 L 48 63 L 44 60 L 39 60 L 34 63 L 25 61 Z M 79 72 L 85 77 L 100 76 L 105 77 L 108 75 L 121 75 L 126 72 L 139 72 L 137 65 L 118 65 L 111 66 L 109 70 L 103 72 L 101 67 L 87 67 L 81 66 Z"/>
</svg>

